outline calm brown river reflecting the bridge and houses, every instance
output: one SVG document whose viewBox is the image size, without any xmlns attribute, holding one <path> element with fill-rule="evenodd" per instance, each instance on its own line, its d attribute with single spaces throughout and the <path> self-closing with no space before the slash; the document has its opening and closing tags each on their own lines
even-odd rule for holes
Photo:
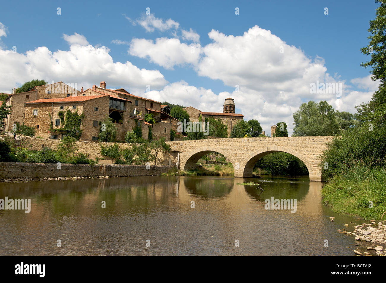
<svg viewBox="0 0 386 283">
<path fill-rule="evenodd" d="M 264 191 L 237 184 L 249 181 Z M 0 198 L 31 199 L 31 211 L 0 210 L 0 255 L 352 256 L 354 237 L 337 230 L 362 221 L 323 206 L 321 188 L 308 177 L 3 182 Z M 296 212 L 266 210 L 271 197 L 296 199 Z"/>
</svg>

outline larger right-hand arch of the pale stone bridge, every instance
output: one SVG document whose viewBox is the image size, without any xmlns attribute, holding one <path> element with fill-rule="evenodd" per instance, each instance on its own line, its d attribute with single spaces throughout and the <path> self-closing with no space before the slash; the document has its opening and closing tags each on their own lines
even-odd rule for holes
<svg viewBox="0 0 386 283">
<path fill-rule="evenodd" d="M 276 145 L 256 150 L 250 153 L 249 155 L 247 155 L 244 161 L 242 161 L 242 163 L 240 164 L 240 171 L 242 170 L 242 176 L 239 176 L 239 177 L 252 177 L 253 167 L 256 164 L 257 160 L 273 152 L 286 152 L 294 155 L 295 157 L 303 161 L 303 163 L 306 165 L 308 169 L 308 174 L 310 176 L 310 181 L 321 181 L 322 177 L 321 177 L 320 169 L 318 168 L 317 165 L 316 166 L 315 164 L 313 165 L 311 160 L 308 157 L 291 148 L 279 147 Z M 241 175 L 241 172 L 238 172 L 238 173 L 239 175 Z M 235 173 L 235 176 L 236 176 L 236 173 Z"/>
</svg>

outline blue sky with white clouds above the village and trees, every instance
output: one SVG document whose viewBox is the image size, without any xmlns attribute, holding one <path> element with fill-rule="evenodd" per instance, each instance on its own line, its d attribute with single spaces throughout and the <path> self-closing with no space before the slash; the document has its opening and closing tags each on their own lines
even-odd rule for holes
<svg viewBox="0 0 386 283">
<path fill-rule="evenodd" d="M 0 91 L 37 77 L 78 89 L 105 80 L 107 87 L 215 112 L 232 96 L 246 120 L 258 119 L 266 132 L 286 121 L 291 132 L 302 102 L 327 100 L 354 112 L 369 100 L 376 83 L 360 66 L 367 57 L 359 49 L 376 7 L 371 0 L 3 2 Z M 284 54 L 277 57 L 272 50 L 280 46 Z M 341 82 L 342 97 L 307 93 L 315 78 Z"/>
</svg>

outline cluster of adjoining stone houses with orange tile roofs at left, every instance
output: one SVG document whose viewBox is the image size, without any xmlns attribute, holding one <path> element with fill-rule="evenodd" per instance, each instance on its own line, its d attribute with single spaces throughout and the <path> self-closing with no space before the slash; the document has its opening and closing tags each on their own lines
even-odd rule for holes
<svg viewBox="0 0 386 283">
<path fill-rule="evenodd" d="M 81 92 L 73 89 L 68 92 L 51 92 L 47 91 L 47 86 L 35 87 L 28 94 L 23 92 L 10 95 L 6 102 L 12 105 L 12 114 L 7 119 L 6 130 L 12 130 L 12 124 L 15 122 L 24 122 L 27 126 L 35 128 L 36 136 L 42 138 L 61 139 L 66 135 L 65 131 L 60 130 L 50 133 L 50 129 L 51 123 L 53 129 L 64 127 L 63 118 L 61 120 L 58 113 L 66 113 L 68 110 L 85 116 L 80 126 L 81 141 L 97 141 L 100 122 L 107 116 L 116 123 L 118 141 L 124 141 L 125 133 L 135 126 L 141 126 L 142 137 L 145 139 L 149 127 L 152 127 L 154 138 L 163 136 L 169 141 L 170 129 L 176 128 L 178 122 L 161 111 L 160 102 L 130 94 L 124 89 L 107 89 L 105 82 L 100 82 L 99 87 L 93 85 L 85 91 L 82 88 Z M 156 123 L 144 121 L 146 113 L 151 113 Z"/>
</svg>

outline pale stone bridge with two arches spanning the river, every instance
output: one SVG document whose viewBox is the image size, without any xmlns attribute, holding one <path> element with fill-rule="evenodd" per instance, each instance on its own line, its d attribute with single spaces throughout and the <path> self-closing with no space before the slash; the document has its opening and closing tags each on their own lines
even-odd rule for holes
<svg viewBox="0 0 386 283">
<path fill-rule="evenodd" d="M 278 138 L 219 138 L 168 142 L 172 153 L 179 153 L 179 169 L 188 170 L 210 152 L 218 152 L 232 162 L 235 177 L 252 177 L 257 160 L 273 152 L 287 152 L 304 162 L 310 181 L 321 181 L 318 155 L 332 136 L 294 136 Z"/>
</svg>

